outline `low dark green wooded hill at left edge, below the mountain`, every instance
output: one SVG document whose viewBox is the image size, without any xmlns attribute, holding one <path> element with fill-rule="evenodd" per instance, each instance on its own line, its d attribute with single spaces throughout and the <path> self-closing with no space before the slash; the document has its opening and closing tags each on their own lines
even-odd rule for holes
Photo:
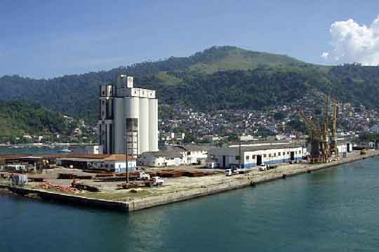
<svg viewBox="0 0 379 252">
<path fill-rule="evenodd" d="M 67 123 L 62 114 L 51 112 L 29 102 L 0 102 L 0 140 L 10 136 L 29 134 L 63 133 Z"/>
</svg>

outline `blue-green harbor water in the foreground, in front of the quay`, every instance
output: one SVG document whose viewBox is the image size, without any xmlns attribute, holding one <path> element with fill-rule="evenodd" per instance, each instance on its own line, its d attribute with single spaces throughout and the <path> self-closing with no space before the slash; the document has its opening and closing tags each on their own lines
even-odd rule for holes
<svg viewBox="0 0 379 252">
<path fill-rule="evenodd" d="M 0 251 L 379 251 L 379 158 L 114 213 L 0 196 Z"/>
</svg>

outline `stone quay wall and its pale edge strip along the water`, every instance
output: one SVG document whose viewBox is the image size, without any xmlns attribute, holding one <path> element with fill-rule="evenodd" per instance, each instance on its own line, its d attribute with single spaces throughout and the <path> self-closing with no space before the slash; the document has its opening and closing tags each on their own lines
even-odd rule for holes
<svg viewBox="0 0 379 252">
<path fill-rule="evenodd" d="M 369 150 L 365 155 L 356 157 L 347 157 L 338 161 L 332 161 L 325 164 L 300 164 L 297 167 L 283 166 L 277 168 L 275 171 L 264 171 L 258 173 L 247 173 L 241 175 L 234 175 L 232 177 L 225 177 L 225 175 L 218 175 L 212 183 L 199 185 L 195 188 L 174 187 L 173 192 L 165 192 L 161 195 L 148 196 L 143 199 L 133 199 L 130 201 L 114 201 L 109 199 L 96 199 L 94 197 L 84 197 L 75 194 L 64 194 L 60 192 L 51 192 L 41 189 L 32 189 L 27 187 L 12 187 L 9 185 L 0 185 L 1 188 L 9 190 L 8 193 L 15 193 L 25 197 L 41 198 L 44 201 L 55 201 L 63 204 L 81 205 L 94 208 L 104 208 L 112 211 L 133 212 L 155 206 L 165 204 L 172 204 L 178 201 L 185 201 L 197 197 L 204 197 L 207 195 L 218 194 L 220 192 L 227 192 L 230 190 L 237 190 L 242 187 L 255 186 L 261 183 L 267 183 L 272 180 L 284 179 L 293 175 L 300 175 L 304 173 L 312 173 L 321 169 L 333 168 L 341 164 L 348 164 L 354 161 L 378 157 L 379 151 Z M 223 176 L 223 177 L 221 177 Z M 193 178 L 192 178 L 193 179 Z M 201 178 L 199 179 L 201 180 Z M 3 189 L 4 190 L 4 189 Z M 153 189 L 154 190 L 154 189 Z M 1 194 L 6 194 L 2 192 Z"/>
</svg>

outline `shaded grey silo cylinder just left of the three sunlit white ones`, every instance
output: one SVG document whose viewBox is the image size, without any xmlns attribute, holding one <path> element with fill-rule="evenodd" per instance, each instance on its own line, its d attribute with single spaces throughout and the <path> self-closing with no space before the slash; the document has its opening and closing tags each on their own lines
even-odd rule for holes
<svg viewBox="0 0 379 252">
<path fill-rule="evenodd" d="M 124 98 L 114 98 L 114 153 L 125 152 L 125 110 Z"/>
</svg>

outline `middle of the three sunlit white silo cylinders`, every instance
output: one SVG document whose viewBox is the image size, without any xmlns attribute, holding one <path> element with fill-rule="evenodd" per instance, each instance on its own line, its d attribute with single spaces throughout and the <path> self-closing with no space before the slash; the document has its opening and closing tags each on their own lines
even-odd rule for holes
<svg viewBox="0 0 379 252">
<path fill-rule="evenodd" d="M 149 152 L 149 99 L 140 97 L 140 153 Z"/>
</svg>

